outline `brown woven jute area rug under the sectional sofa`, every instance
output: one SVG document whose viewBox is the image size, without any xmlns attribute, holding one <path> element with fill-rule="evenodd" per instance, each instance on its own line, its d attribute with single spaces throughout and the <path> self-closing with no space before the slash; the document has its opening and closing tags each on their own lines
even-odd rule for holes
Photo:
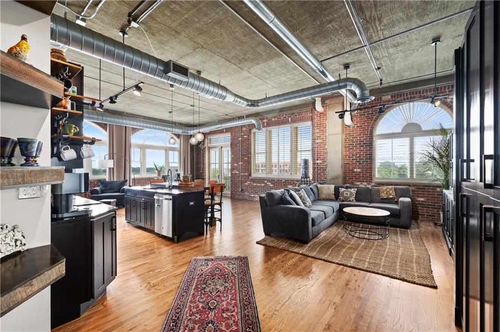
<svg viewBox="0 0 500 332">
<path fill-rule="evenodd" d="M 339 220 L 308 244 L 273 236 L 266 236 L 257 244 L 437 288 L 416 221 L 410 229 L 391 227 L 389 237 L 380 241 L 360 240 L 345 234 Z"/>
</svg>

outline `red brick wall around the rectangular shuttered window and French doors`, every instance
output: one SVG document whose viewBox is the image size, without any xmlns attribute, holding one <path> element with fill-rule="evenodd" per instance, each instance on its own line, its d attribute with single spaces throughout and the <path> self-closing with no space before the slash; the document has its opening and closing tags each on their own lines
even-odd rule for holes
<svg viewBox="0 0 500 332">
<path fill-rule="evenodd" d="M 324 105 L 324 108 L 326 109 L 326 105 Z M 262 121 L 263 127 L 312 121 L 311 178 L 313 181 L 318 182 L 326 180 L 326 112 L 319 113 L 309 109 L 272 117 L 262 117 L 260 121 Z M 259 195 L 265 194 L 266 191 L 294 186 L 299 181 L 298 179 L 262 179 L 251 177 L 250 134 L 252 129 L 253 125 L 225 129 L 225 132 L 230 132 L 231 134 L 232 198 L 256 200 Z M 224 132 L 224 130 L 207 133 L 205 137 L 220 132 Z M 204 142 L 198 143 L 196 147 L 196 178 L 204 178 L 205 176 L 205 156 Z"/>
</svg>

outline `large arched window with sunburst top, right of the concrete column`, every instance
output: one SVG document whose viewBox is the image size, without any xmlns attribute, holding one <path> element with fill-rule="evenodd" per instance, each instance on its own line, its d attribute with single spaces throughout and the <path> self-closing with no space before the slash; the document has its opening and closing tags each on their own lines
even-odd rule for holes
<svg viewBox="0 0 500 332">
<path fill-rule="evenodd" d="M 421 156 L 430 148 L 429 143 L 440 139 L 440 125 L 449 131 L 453 127 L 451 116 L 426 102 L 402 104 L 386 112 L 373 132 L 374 179 L 428 182 L 438 177 L 439 170 Z"/>
</svg>

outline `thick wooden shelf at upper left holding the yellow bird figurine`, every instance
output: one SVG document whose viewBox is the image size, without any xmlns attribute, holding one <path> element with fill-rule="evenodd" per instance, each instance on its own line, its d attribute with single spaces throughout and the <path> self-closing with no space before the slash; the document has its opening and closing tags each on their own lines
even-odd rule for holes
<svg viewBox="0 0 500 332">
<path fill-rule="evenodd" d="M 62 82 L 15 57 L 0 54 L 1 101 L 49 109 L 62 100 Z"/>
</svg>

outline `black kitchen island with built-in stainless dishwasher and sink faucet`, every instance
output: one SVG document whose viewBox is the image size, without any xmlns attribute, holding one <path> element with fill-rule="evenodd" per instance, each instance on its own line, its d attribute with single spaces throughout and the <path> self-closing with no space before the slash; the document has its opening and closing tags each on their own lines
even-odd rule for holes
<svg viewBox="0 0 500 332">
<path fill-rule="evenodd" d="M 203 188 L 174 185 L 125 189 L 125 221 L 177 243 L 203 235 Z"/>
</svg>

